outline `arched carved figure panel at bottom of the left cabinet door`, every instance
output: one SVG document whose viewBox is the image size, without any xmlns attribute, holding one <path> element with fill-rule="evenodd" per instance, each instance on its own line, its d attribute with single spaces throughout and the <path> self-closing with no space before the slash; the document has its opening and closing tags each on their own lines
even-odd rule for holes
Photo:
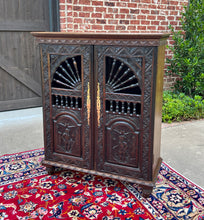
<svg viewBox="0 0 204 220">
<path fill-rule="evenodd" d="M 54 120 L 55 152 L 81 157 L 81 125 L 74 118 L 62 115 Z"/>
</svg>

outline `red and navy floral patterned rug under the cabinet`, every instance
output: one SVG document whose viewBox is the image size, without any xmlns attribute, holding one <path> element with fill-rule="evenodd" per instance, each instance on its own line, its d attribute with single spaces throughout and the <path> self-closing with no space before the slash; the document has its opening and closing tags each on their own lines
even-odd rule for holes
<svg viewBox="0 0 204 220">
<path fill-rule="evenodd" d="M 204 190 L 162 163 L 148 199 L 134 184 L 70 170 L 48 175 L 43 149 L 0 157 L 0 220 L 204 219 Z"/>
</svg>

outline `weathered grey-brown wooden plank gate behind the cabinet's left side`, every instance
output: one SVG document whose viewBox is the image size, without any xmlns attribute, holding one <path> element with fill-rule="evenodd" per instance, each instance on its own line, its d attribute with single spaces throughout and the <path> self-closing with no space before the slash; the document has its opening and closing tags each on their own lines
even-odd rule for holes
<svg viewBox="0 0 204 220">
<path fill-rule="evenodd" d="M 39 47 L 30 31 L 56 25 L 57 2 L 49 13 L 49 0 L 0 1 L 0 111 L 42 105 Z"/>
</svg>

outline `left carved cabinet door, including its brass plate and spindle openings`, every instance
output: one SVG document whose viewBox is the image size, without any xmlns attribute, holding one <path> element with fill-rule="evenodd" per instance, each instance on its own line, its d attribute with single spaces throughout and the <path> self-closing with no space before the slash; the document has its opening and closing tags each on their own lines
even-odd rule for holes
<svg viewBox="0 0 204 220">
<path fill-rule="evenodd" d="M 93 169 L 92 46 L 41 45 L 45 160 Z"/>
</svg>

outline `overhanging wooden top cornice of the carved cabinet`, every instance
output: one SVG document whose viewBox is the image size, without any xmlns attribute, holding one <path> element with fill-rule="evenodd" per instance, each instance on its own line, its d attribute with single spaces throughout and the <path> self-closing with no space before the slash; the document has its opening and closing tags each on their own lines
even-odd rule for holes
<svg viewBox="0 0 204 220">
<path fill-rule="evenodd" d="M 38 43 L 159 46 L 166 43 L 169 33 L 79 33 L 31 32 Z"/>
</svg>

